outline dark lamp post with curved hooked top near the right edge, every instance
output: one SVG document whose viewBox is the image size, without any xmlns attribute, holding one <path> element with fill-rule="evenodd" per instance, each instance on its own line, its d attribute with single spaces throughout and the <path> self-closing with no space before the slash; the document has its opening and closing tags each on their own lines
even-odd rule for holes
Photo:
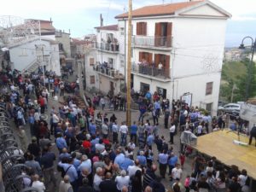
<svg viewBox="0 0 256 192">
<path fill-rule="evenodd" d="M 250 36 L 247 36 L 247 37 L 245 37 L 241 40 L 241 45 L 239 46 L 239 49 L 245 49 L 245 46 L 244 46 L 243 42 L 247 38 L 252 40 L 252 45 L 251 45 L 251 54 L 252 54 L 252 56 L 251 56 L 251 60 L 250 60 L 250 63 L 249 63 L 249 70 L 248 70 L 248 77 L 247 77 L 247 84 L 246 84 L 246 96 L 245 96 L 246 101 L 249 97 L 250 84 L 251 84 L 251 79 L 252 79 L 253 55 L 254 55 L 254 51 L 256 49 L 256 38 L 253 41 L 253 38 L 250 37 Z"/>
</svg>

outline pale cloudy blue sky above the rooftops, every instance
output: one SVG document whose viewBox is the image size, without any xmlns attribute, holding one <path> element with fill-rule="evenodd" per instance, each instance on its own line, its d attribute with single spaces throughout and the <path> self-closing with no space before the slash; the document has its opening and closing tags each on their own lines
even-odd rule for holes
<svg viewBox="0 0 256 192">
<path fill-rule="evenodd" d="M 185 1 L 189 0 L 165 0 L 165 3 Z M 226 47 L 238 46 L 245 36 L 256 37 L 256 0 L 211 2 L 232 15 L 227 23 Z M 163 0 L 133 0 L 133 9 L 160 3 L 163 3 Z M 95 33 L 94 27 L 100 25 L 100 14 L 103 16 L 104 25 L 112 25 L 117 24 L 114 16 L 128 10 L 128 0 L 8 0 L 2 5 L 4 7 L 0 15 L 40 20 L 51 18 L 56 29 L 65 32 L 70 30 L 73 38 Z"/>
</svg>

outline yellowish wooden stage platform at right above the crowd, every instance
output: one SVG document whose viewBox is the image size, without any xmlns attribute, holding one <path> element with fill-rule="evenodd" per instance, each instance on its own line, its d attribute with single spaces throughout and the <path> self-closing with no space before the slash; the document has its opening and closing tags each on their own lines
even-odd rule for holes
<svg viewBox="0 0 256 192">
<path fill-rule="evenodd" d="M 253 139 L 252 145 L 241 146 L 233 143 L 238 140 L 236 132 L 230 130 L 215 131 L 207 135 L 197 137 L 197 145 L 193 146 L 202 154 L 215 156 L 226 166 L 236 165 L 239 170 L 246 169 L 247 174 L 256 179 L 256 147 Z M 240 141 L 248 143 L 249 138 L 240 135 Z"/>
</svg>

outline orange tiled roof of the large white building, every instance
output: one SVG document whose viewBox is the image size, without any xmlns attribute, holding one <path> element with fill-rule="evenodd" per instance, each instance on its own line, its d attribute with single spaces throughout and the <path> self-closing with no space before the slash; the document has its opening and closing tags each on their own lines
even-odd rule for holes
<svg viewBox="0 0 256 192">
<path fill-rule="evenodd" d="M 157 15 L 174 15 L 175 12 L 179 9 L 188 8 L 197 3 L 201 3 L 203 1 L 191 1 L 191 2 L 183 2 L 183 3 L 168 3 L 168 4 L 159 4 L 159 5 L 151 5 L 146 6 L 140 9 L 132 10 L 132 17 L 145 17 L 145 16 L 157 16 Z M 128 12 L 125 14 L 115 16 L 115 19 L 126 18 L 128 17 Z"/>
</svg>

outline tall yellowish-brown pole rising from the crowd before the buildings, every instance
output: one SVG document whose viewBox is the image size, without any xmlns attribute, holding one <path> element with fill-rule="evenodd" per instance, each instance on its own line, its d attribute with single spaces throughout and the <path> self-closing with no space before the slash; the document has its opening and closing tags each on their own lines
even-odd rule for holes
<svg viewBox="0 0 256 192">
<path fill-rule="evenodd" d="M 127 60 L 127 108 L 126 108 L 126 125 L 131 126 L 131 10 L 132 0 L 129 0 L 128 14 L 128 60 Z"/>
</svg>

